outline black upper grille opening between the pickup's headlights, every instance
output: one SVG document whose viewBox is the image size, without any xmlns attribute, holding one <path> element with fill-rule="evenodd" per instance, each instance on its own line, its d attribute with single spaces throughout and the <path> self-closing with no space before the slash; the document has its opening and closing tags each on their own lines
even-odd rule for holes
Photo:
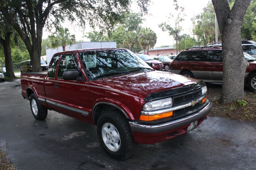
<svg viewBox="0 0 256 170">
<path fill-rule="evenodd" d="M 193 100 L 199 99 L 202 97 L 202 90 L 199 89 L 197 91 L 194 91 L 192 93 L 172 97 L 172 105 L 173 106 L 178 106 L 178 105 L 183 105 L 185 103 L 191 102 Z"/>
</svg>

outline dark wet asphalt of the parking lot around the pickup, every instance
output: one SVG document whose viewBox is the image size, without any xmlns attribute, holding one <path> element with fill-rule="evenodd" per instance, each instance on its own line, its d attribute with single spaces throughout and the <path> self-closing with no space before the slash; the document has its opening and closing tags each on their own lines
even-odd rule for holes
<svg viewBox="0 0 256 170">
<path fill-rule="evenodd" d="M 221 88 L 216 86 L 214 88 Z M 36 121 L 20 81 L 0 82 L 0 147 L 20 170 L 41 169 L 256 169 L 256 122 L 208 117 L 185 136 L 139 144 L 125 161 L 108 157 L 96 127 L 48 111 Z"/>
</svg>

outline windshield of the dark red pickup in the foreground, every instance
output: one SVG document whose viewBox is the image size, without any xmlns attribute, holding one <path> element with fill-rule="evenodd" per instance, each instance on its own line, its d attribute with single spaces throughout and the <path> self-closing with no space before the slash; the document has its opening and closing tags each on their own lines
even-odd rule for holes
<svg viewBox="0 0 256 170">
<path fill-rule="evenodd" d="M 90 79 L 97 77 L 153 70 L 147 63 L 128 50 L 101 50 L 80 53 Z"/>
</svg>

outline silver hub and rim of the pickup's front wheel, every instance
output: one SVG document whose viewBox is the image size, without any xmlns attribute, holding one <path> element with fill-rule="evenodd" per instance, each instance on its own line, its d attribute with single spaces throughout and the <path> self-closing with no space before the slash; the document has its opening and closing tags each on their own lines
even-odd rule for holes
<svg viewBox="0 0 256 170">
<path fill-rule="evenodd" d="M 102 126 L 102 138 L 108 149 L 116 152 L 121 146 L 120 134 L 116 127 L 111 123 Z"/>
</svg>

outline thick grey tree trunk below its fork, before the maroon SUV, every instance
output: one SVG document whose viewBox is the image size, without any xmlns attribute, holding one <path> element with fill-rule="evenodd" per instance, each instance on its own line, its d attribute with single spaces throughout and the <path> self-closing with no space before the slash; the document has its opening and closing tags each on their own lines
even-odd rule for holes
<svg viewBox="0 0 256 170">
<path fill-rule="evenodd" d="M 230 103 L 244 98 L 244 73 L 248 62 L 244 58 L 241 43 L 241 22 L 227 18 L 222 32 L 223 56 L 223 103 Z"/>
</svg>

